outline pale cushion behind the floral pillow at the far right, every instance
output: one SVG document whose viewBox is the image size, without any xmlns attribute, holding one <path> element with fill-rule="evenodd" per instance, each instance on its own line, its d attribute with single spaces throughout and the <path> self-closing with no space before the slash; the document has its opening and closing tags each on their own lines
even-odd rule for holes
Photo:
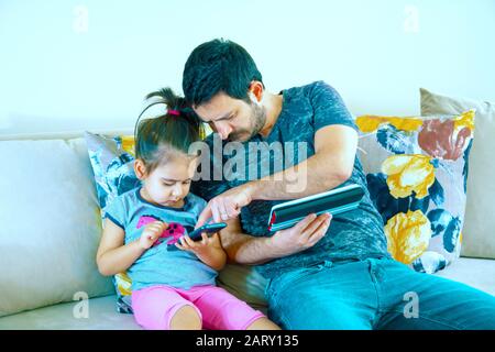
<svg viewBox="0 0 495 352">
<path fill-rule="evenodd" d="M 420 95 L 421 114 L 460 113 L 476 109 L 461 254 L 495 258 L 495 105 L 446 97 L 424 88 Z"/>
</svg>

